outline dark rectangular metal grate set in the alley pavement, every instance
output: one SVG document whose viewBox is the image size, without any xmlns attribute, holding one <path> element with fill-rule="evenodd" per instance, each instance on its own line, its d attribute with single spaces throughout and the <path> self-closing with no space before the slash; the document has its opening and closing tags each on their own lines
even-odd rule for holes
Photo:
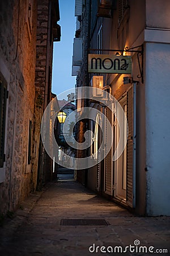
<svg viewBox="0 0 170 256">
<path fill-rule="evenodd" d="M 104 219 L 81 219 L 81 218 L 62 218 L 61 226 L 108 226 L 110 225 Z"/>
</svg>

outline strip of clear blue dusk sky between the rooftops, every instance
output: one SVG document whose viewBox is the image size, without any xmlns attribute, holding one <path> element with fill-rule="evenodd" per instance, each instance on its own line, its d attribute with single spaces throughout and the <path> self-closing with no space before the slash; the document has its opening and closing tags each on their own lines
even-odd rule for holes
<svg viewBox="0 0 170 256">
<path fill-rule="evenodd" d="M 73 39 L 76 19 L 75 0 L 59 0 L 61 42 L 54 43 L 52 92 L 59 94 L 74 88 L 75 76 L 71 76 Z"/>
</svg>

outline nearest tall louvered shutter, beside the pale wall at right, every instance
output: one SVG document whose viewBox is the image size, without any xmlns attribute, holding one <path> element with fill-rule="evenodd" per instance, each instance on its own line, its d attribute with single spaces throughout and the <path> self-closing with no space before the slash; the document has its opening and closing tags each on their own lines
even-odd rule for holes
<svg viewBox="0 0 170 256">
<path fill-rule="evenodd" d="M 136 109 L 136 93 L 135 84 L 127 92 L 127 119 L 128 119 L 128 142 L 127 142 L 127 193 L 126 201 L 127 204 L 135 208 L 135 137 L 136 137 L 136 127 L 135 127 L 135 111 Z"/>
</svg>

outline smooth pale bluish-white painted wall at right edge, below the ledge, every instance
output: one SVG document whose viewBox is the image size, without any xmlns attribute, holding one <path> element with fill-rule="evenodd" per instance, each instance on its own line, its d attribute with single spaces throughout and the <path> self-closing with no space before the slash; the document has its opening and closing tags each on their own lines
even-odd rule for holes
<svg viewBox="0 0 170 256">
<path fill-rule="evenodd" d="M 146 43 L 147 214 L 170 215 L 170 44 Z"/>
</svg>

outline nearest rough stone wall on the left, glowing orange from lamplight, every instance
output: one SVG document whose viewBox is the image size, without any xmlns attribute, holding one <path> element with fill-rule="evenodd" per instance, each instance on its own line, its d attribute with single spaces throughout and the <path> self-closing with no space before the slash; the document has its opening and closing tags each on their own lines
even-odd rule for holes
<svg viewBox="0 0 170 256">
<path fill-rule="evenodd" d="M 4 213 L 15 210 L 36 183 L 32 162 L 27 161 L 28 124 L 35 102 L 36 6 L 36 0 L 32 1 L 31 20 L 26 1 L 1 1 L 0 6 L 0 71 L 8 71 L 5 180 L 0 184 Z"/>
</svg>

